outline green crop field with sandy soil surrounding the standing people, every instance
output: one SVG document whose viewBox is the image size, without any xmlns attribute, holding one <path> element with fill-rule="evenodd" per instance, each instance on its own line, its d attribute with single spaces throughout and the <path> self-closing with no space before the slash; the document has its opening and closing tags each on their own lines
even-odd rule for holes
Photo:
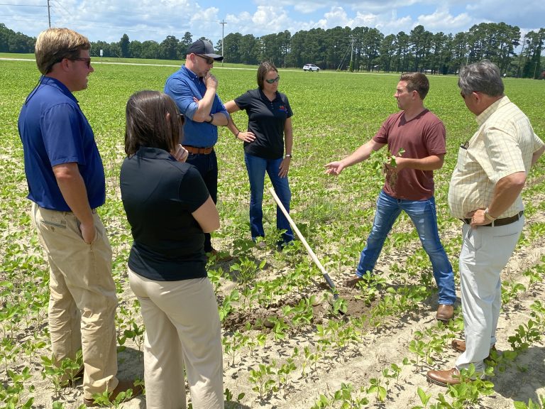
<svg viewBox="0 0 545 409">
<path fill-rule="evenodd" d="M 172 62 L 152 63 L 157 65 L 94 63 L 89 89 L 76 94 L 106 168 L 106 205 L 99 212 L 114 249 L 122 377 L 143 376 L 143 325 L 138 302 L 128 288 L 131 234 L 119 194 L 125 104 L 138 90 L 162 90 L 177 69 L 160 65 Z M 256 86 L 255 67 L 216 63 L 212 72 L 224 102 Z M 503 276 L 497 344 L 502 354 L 493 366 L 494 376 L 451 390 L 429 386 L 426 371 L 448 369 L 456 359 L 449 345 L 463 333 L 459 302 L 455 320 L 449 325 L 436 323 L 431 266 L 407 217 L 392 230 L 368 285 L 341 288 L 356 268 L 373 221 L 382 185 L 379 156 L 337 178 L 324 175 L 324 164 L 368 141 L 397 109 L 393 94 L 399 75 L 280 70 L 280 77 L 279 89 L 294 111 L 292 218 L 341 296 L 333 300 L 299 241 L 287 251 L 275 251 L 275 205 L 268 192 L 263 207 L 269 246 L 253 246 L 242 143 L 220 129 L 216 151 L 221 229 L 213 234 L 213 242 L 235 258 L 210 263 L 209 277 L 224 328 L 226 407 L 541 408 L 545 160 L 527 180 L 523 195 L 527 225 Z M 19 110 L 38 78 L 32 61 L 0 60 L 0 408 L 78 408 L 81 383 L 60 388 L 59 371 L 50 365 L 48 266 L 31 226 L 17 131 Z M 448 153 L 435 179 L 439 229 L 457 276 L 461 222 L 450 216 L 446 194 L 458 147 L 473 135 L 476 122 L 459 95 L 456 77 L 429 80 L 426 107 L 444 121 L 447 131 Z M 545 81 L 507 78 L 505 91 L 544 138 Z M 246 114 L 233 118 L 243 129 Z M 130 401 L 122 407 L 135 405 Z"/>
</svg>

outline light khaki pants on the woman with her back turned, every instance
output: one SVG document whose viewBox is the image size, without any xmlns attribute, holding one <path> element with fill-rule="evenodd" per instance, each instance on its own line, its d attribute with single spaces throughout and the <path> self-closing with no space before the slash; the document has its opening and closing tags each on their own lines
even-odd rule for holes
<svg viewBox="0 0 545 409">
<path fill-rule="evenodd" d="M 145 324 L 147 409 L 186 408 L 184 367 L 193 408 L 223 409 L 221 326 L 208 278 L 149 280 L 128 271 Z"/>
</svg>

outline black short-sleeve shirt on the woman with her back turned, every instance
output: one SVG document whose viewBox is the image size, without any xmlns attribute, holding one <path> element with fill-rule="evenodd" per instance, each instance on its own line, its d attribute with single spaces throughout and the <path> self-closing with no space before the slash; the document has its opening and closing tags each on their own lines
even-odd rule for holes
<svg viewBox="0 0 545 409">
<path fill-rule="evenodd" d="M 150 280 L 206 277 L 204 233 L 192 213 L 209 192 L 197 168 L 142 147 L 123 160 L 120 182 L 134 239 L 129 268 Z"/>
</svg>

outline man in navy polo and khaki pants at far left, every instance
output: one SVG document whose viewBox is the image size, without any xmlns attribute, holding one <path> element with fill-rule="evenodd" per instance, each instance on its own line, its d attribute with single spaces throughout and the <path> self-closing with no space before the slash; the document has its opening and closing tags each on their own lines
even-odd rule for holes
<svg viewBox="0 0 545 409">
<path fill-rule="evenodd" d="M 67 28 L 40 33 L 35 45 L 38 85 L 28 95 L 18 129 L 23 142 L 32 218 L 50 266 L 49 330 L 57 364 L 83 366 L 65 373 L 65 383 L 83 373 L 84 404 L 95 393 L 141 386 L 116 378 L 116 285 L 111 247 L 98 214 L 106 197 L 104 167 L 94 134 L 72 92 L 87 88 L 93 72 L 89 40 Z"/>
</svg>

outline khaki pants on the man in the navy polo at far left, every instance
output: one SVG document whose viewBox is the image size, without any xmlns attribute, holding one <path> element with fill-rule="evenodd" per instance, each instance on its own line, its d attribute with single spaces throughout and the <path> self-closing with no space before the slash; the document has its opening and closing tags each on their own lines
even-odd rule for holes
<svg viewBox="0 0 545 409">
<path fill-rule="evenodd" d="M 32 218 L 50 267 L 48 319 L 55 359 L 74 359 L 82 349 L 84 398 L 111 391 L 118 383 L 117 297 L 104 225 L 95 213 L 97 237 L 87 244 L 72 212 L 33 203 Z"/>
</svg>

